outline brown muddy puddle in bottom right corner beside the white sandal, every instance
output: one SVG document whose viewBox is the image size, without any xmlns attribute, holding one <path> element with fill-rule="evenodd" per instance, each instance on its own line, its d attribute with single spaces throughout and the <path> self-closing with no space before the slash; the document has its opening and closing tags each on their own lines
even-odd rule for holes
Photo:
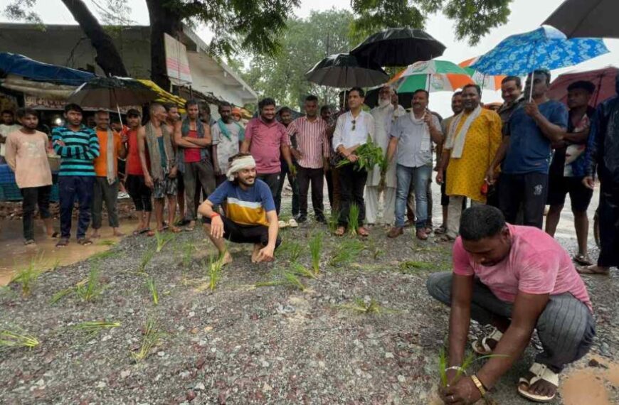
<svg viewBox="0 0 619 405">
<path fill-rule="evenodd" d="M 597 362 L 598 367 L 591 367 L 590 362 Z M 583 367 L 568 372 L 559 390 L 564 405 L 612 405 L 616 404 L 613 391 L 618 388 L 619 364 L 591 356 Z"/>
</svg>

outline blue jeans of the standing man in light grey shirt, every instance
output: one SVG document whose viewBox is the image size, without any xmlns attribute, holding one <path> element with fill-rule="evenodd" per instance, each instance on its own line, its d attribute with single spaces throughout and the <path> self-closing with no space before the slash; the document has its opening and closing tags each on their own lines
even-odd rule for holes
<svg viewBox="0 0 619 405">
<path fill-rule="evenodd" d="M 404 214 L 406 213 L 406 199 L 411 181 L 415 187 L 415 215 L 417 222 L 416 229 L 425 228 L 428 220 L 428 181 L 432 175 L 432 166 L 420 166 L 409 168 L 398 164 L 396 176 L 398 178 L 398 188 L 396 189 L 396 227 L 404 227 Z"/>
</svg>

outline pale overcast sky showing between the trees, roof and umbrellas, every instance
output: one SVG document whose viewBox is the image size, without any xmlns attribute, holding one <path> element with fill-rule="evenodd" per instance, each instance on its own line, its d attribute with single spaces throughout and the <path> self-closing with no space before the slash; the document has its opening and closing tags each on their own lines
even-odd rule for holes
<svg viewBox="0 0 619 405">
<path fill-rule="evenodd" d="M 90 3 L 90 0 L 85 0 Z M 465 42 L 458 42 L 454 39 L 453 23 L 443 15 L 430 16 L 426 25 L 426 31 L 436 39 L 441 41 L 447 50 L 440 59 L 450 60 L 454 63 L 459 63 L 462 60 L 472 58 L 477 55 L 482 55 L 488 50 L 497 45 L 503 38 L 514 33 L 522 33 L 534 30 L 554 11 L 563 0 L 514 0 L 511 4 L 512 14 L 509 16 L 509 22 L 490 32 L 489 35 L 482 38 L 480 43 L 471 47 Z M 0 9 L 4 10 L 9 0 L 0 0 Z M 139 24 L 147 25 L 149 23 L 148 12 L 144 0 L 127 0 L 127 3 L 132 7 L 132 19 Z M 301 6 L 295 11 L 297 16 L 305 17 L 312 10 L 327 10 L 332 7 L 337 9 L 349 9 L 349 0 L 302 0 Z M 75 23 L 73 17 L 67 11 L 60 0 L 38 0 L 36 11 L 41 15 L 45 23 Z M 6 21 L 6 17 L 0 16 L 1 21 Z M 208 30 L 199 29 L 199 35 L 205 41 L 210 39 Z M 619 40 L 605 40 L 610 53 L 599 58 L 590 60 L 573 68 L 556 70 L 553 75 L 556 76 L 561 72 L 570 70 L 589 70 L 601 68 L 615 63 L 619 55 Z M 309 67 L 308 67 L 309 68 Z M 435 109 L 444 116 L 450 114 L 449 107 L 450 95 L 446 93 L 433 93 L 430 96 L 430 108 Z M 498 92 L 484 92 L 483 97 L 485 102 L 500 101 Z"/>
</svg>

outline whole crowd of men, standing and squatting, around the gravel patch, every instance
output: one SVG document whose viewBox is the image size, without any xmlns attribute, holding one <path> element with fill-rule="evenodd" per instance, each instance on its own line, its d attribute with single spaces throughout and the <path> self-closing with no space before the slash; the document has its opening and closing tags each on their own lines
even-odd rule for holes
<svg viewBox="0 0 619 405">
<path fill-rule="evenodd" d="M 591 301 L 578 272 L 608 274 L 619 266 L 619 80 L 618 96 L 597 109 L 589 107 L 593 83 L 573 82 L 565 106 L 547 96 L 550 80 L 548 71 L 538 70 L 523 89 L 519 77 L 506 77 L 504 104 L 497 112 L 483 108 L 479 86 L 466 85 L 453 95 L 454 114 L 446 119 L 431 111 L 427 91 L 416 91 L 411 106 L 401 106 L 390 87 L 381 88 L 378 105 L 369 112 L 358 87 L 346 92 L 334 115 L 310 95 L 297 119 L 289 108 L 277 111 L 275 100 L 265 98 L 258 117 L 246 126 L 233 119 L 229 104 L 220 104 L 221 118 L 214 121 L 204 119 L 199 104 L 189 101 L 183 119 L 176 107 L 154 103 L 144 123 L 132 109 L 127 128 L 115 131 L 110 114 L 100 111 L 90 129 L 80 106 L 69 104 L 65 124 L 51 139 L 53 152 L 62 158 L 57 246 L 70 240 L 76 201 L 79 244 L 91 243 L 86 235 L 91 224 L 91 237 L 99 236 L 104 202 L 112 231 L 121 234 L 119 158 L 126 158 L 125 187 L 139 213 L 134 234 L 154 233 L 153 209 L 159 232 L 179 232 L 179 226 L 191 231 L 199 213 L 224 264 L 233 258 L 223 239 L 253 244 L 254 262 L 273 260 L 280 227 L 308 220 L 310 188 L 314 220 L 326 223 L 326 181 L 337 236 L 351 226 L 349 213 L 356 205 L 361 237 L 380 224 L 389 227 L 388 237 L 399 237 L 406 215 L 418 239 L 434 232 L 455 242 L 453 272 L 428 279 L 430 295 L 452 306 L 445 372 L 450 379 L 462 373 L 471 319 L 494 327 L 473 342 L 473 350 L 497 356 L 477 374 L 441 389 L 446 404 L 469 404 L 484 396 L 519 358 L 535 329 L 544 351 L 517 389 L 528 399 L 549 401 L 561 370 L 589 350 L 595 335 Z M 17 116 L 20 126 L 7 136 L 5 156 L 23 195 L 24 238 L 33 244 L 36 205 L 48 234 L 55 235 L 49 212 L 50 144 L 36 130 L 35 111 L 19 109 Z M 4 126 L 9 125 L 7 117 Z M 386 164 L 357 164 L 359 148 L 369 140 L 381 147 Z M 344 160 L 348 164 L 340 164 Z M 437 229 L 430 222 L 433 171 L 443 206 Z M 601 254 L 593 264 L 587 210 L 596 173 Z M 279 220 L 285 178 L 293 193 L 293 218 L 287 222 Z M 573 258 L 553 238 L 567 194 L 578 239 Z M 465 210 L 468 200 L 471 207 Z M 177 202 L 180 223 L 174 222 Z M 414 213 L 407 213 L 412 207 Z M 573 261 L 582 266 L 576 269 Z"/>
</svg>

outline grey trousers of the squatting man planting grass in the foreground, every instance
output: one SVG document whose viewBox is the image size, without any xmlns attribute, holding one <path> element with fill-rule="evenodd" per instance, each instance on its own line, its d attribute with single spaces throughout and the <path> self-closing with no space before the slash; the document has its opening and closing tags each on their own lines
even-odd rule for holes
<svg viewBox="0 0 619 405">
<path fill-rule="evenodd" d="M 430 296 L 450 306 L 453 273 L 435 273 L 428 278 Z M 490 288 L 475 279 L 471 302 L 471 318 L 482 325 L 492 317 L 512 317 L 513 304 L 500 300 Z M 591 348 L 596 335 L 596 321 L 589 308 L 571 293 L 550 296 L 546 308 L 537 320 L 537 334 L 544 351 L 535 362 L 558 373 L 568 363 L 580 359 Z"/>
</svg>

